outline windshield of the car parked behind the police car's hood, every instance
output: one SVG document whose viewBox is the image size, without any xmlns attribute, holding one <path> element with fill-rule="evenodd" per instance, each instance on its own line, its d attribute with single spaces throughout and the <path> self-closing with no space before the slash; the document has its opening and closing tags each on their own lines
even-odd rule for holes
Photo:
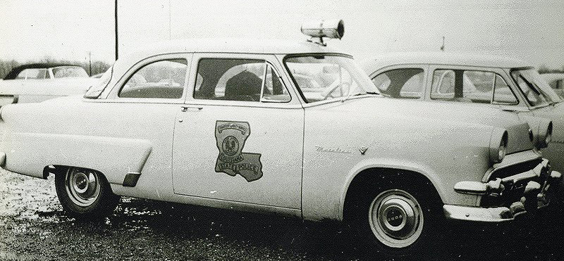
<svg viewBox="0 0 564 261">
<path fill-rule="evenodd" d="M 537 70 L 528 68 L 524 70 L 513 70 L 511 77 L 517 82 L 517 86 L 532 106 L 546 106 L 551 103 L 559 103 L 560 97 L 539 75 Z"/>
</svg>

